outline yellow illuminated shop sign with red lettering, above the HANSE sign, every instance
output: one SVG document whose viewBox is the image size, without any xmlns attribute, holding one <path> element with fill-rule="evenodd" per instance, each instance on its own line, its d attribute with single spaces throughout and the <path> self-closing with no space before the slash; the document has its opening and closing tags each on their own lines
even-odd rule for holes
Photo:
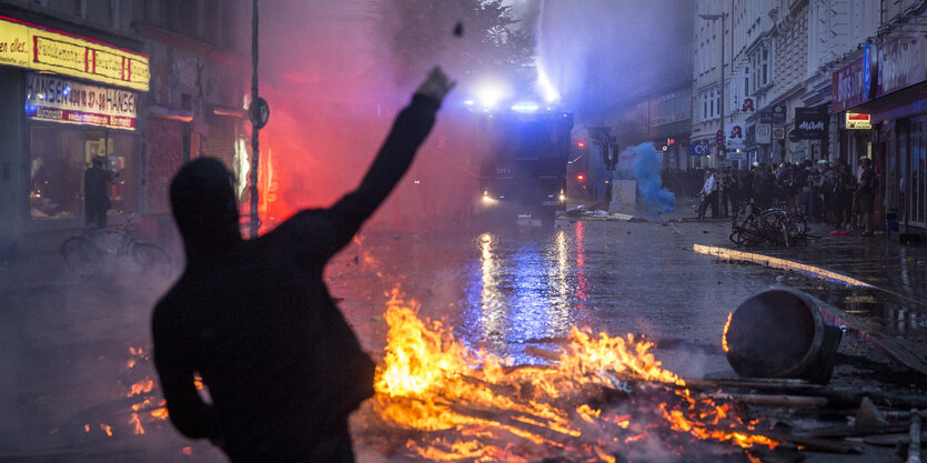
<svg viewBox="0 0 927 463">
<path fill-rule="evenodd" d="M 0 17 L 0 64 L 148 91 L 148 57 Z"/>
</svg>

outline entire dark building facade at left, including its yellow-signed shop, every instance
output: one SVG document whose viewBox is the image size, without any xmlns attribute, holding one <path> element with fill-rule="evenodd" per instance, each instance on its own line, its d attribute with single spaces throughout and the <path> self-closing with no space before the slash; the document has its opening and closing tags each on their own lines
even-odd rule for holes
<svg viewBox="0 0 927 463">
<path fill-rule="evenodd" d="M 0 102 L 4 253 L 53 249 L 84 227 L 94 157 L 119 173 L 111 223 L 135 212 L 144 233 L 172 232 L 167 184 L 180 163 L 213 154 L 232 167 L 245 130 L 242 3 L 0 6 L 0 83 L 12 90 Z"/>
</svg>

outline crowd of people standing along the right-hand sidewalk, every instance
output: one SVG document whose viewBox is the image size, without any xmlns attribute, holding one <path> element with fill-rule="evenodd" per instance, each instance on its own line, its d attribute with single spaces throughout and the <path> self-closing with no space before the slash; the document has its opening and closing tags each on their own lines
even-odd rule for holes
<svg viewBox="0 0 927 463">
<path fill-rule="evenodd" d="M 668 171 L 665 184 L 677 194 L 699 192 L 699 217 L 709 208 L 712 218 L 717 219 L 743 213 L 749 203 L 760 209 L 779 205 L 804 214 L 809 223 L 826 223 L 835 230 L 856 228 L 870 236 L 877 179 L 871 160 L 861 158 L 855 173 L 840 160 L 778 165 L 755 162 L 748 170 Z"/>
</svg>

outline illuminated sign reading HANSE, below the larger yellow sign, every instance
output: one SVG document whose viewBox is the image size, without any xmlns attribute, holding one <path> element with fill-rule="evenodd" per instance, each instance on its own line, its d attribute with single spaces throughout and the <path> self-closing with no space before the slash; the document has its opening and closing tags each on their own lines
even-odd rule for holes
<svg viewBox="0 0 927 463">
<path fill-rule="evenodd" d="M 135 92 L 30 73 L 26 117 L 34 120 L 135 130 Z"/>
</svg>

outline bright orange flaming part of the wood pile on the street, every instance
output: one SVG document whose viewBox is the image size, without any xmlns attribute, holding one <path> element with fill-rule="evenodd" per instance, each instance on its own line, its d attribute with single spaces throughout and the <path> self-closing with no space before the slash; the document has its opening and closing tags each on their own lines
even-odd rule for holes
<svg viewBox="0 0 927 463">
<path fill-rule="evenodd" d="M 393 293 L 386 353 L 362 439 L 386 453 L 434 461 L 624 462 L 775 449 L 763 420 L 687 386 L 661 368 L 653 344 L 573 329 L 550 364 L 508 365 L 472 352 L 440 322 L 420 320 Z M 726 445 L 714 445 L 722 443 Z M 697 450 L 696 450 L 697 449 Z M 662 456 L 661 456 L 662 455 Z"/>
</svg>

